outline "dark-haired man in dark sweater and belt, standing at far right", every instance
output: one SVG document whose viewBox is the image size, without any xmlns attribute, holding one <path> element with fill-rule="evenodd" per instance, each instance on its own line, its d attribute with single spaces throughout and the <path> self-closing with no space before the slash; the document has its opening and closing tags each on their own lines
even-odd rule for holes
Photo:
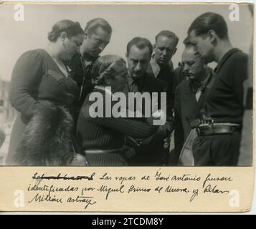
<svg viewBox="0 0 256 229">
<path fill-rule="evenodd" d="M 223 16 L 208 12 L 189 26 L 189 39 L 205 62 L 217 62 L 207 89 L 202 125 L 193 145 L 195 165 L 237 165 L 242 129 L 247 54 L 232 47 Z M 203 125 L 204 124 L 204 125 Z"/>
</svg>

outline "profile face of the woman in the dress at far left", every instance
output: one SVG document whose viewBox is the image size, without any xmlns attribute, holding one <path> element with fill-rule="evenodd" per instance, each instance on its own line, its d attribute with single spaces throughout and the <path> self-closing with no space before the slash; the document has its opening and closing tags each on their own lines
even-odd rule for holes
<svg viewBox="0 0 256 229">
<path fill-rule="evenodd" d="M 83 34 L 77 34 L 76 36 L 71 36 L 70 38 L 66 37 L 64 39 L 64 42 L 62 42 L 62 46 L 63 46 L 62 59 L 70 60 L 74 56 L 74 54 L 79 52 L 83 39 L 84 39 Z"/>
</svg>

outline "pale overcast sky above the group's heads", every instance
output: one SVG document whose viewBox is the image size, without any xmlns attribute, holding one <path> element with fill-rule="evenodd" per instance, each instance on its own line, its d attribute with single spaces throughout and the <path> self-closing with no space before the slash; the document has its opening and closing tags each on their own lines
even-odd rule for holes
<svg viewBox="0 0 256 229">
<path fill-rule="evenodd" d="M 176 67 L 184 49 L 182 41 L 196 16 L 212 11 L 224 16 L 234 45 L 249 52 L 252 41 L 252 18 L 246 5 L 240 5 L 240 21 L 230 21 L 229 4 L 213 5 L 24 5 L 24 21 L 14 21 L 14 5 L 0 5 L 0 76 L 11 79 L 16 59 L 27 50 L 47 46 L 47 34 L 61 19 L 79 21 L 82 28 L 90 19 L 102 17 L 113 27 L 113 35 L 103 54 L 125 57 L 126 44 L 134 36 L 154 37 L 161 30 L 179 36 L 178 51 L 173 57 Z"/>
</svg>

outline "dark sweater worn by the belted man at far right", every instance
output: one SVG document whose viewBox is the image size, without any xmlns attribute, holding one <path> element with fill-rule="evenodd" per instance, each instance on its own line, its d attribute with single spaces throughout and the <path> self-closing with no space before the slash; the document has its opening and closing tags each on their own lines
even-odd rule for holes
<svg viewBox="0 0 256 229">
<path fill-rule="evenodd" d="M 247 54 L 231 49 L 214 71 L 206 94 L 205 111 L 214 122 L 242 123 L 243 82 L 247 79 Z"/>
</svg>

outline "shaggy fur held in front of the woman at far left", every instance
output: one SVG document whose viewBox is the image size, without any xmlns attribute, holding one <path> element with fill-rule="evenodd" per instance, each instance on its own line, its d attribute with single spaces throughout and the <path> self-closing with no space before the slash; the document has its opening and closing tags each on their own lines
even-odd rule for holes
<svg viewBox="0 0 256 229">
<path fill-rule="evenodd" d="M 44 101 L 36 105 L 34 115 L 17 147 L 19 165 L 67 165 L 72 150 L 73 120 L 65 107 Z"/>
</svg>

